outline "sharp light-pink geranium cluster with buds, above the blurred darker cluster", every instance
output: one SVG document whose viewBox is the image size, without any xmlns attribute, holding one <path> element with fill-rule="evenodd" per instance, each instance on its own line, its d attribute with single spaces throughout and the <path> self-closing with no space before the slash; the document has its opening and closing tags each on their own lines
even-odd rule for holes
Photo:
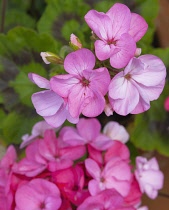
<svg viewBox="0 0 169 210">
<path fill-rule="evenodd" d="M 50 80 L 29 74 L 32 82 L 47 89 L 34 93 L 32 102 L 37 113 L 54 127 L 66 119 L 77 123 L 81 114 L 96 117 L 103 111 L 108 116 L 114 111 L 124 116 L 142 113 L 164 88 L 163 62 L 154 55 L 135 57 L 141 52 L 136 43 L 148 28 L 140 15 L 116 3 L 107 13 L 90 10 L 85 21 L 96 40 L 95 54 L 83 48 L 72 34 L 70 45 L 75 51 L 64 61 L 53 53 L 41 53 L 47 64 L 63 63 L 67 74 Z"/>
</svg>

